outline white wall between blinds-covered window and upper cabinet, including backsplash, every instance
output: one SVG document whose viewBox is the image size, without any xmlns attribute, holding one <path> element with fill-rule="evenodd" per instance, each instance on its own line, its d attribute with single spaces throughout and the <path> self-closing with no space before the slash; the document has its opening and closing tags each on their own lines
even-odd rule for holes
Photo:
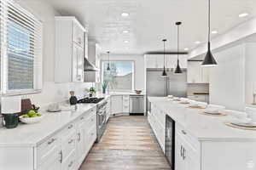
<svg viewBox="0 0 256 170">
<path fill-rule="evenodd" d="M 44 23 L 44 51 L 43 51 L 43 93 L 31 94 L 22 98 L 32 99 L 32 103 L 40 106 L 63 101 L 69 98 L 69 91 L 76 95 L 84 95 L 84 88 L 90 88 L 91 83 L 55 83 L 55 15 L 60 15 L 54 8 L 44 1 L 22 0 L 20 5 L 38 16 Z M 65 69 L 65 68 L 63 68 Z"/>
</svg>

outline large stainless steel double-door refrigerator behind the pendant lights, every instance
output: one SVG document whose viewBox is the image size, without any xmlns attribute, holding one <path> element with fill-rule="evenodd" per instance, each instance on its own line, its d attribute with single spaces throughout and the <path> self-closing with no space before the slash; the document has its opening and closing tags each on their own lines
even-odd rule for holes
<svg viewBox="0 0 256 170">
<path fill-rule="evenodd" d="M 162 69 L 147 69 L 147 96 L 187 97 L 187 71 L 183 69 L 182 74 L 166 72 L 168 77 L 161 77 Z"/>
</svg>

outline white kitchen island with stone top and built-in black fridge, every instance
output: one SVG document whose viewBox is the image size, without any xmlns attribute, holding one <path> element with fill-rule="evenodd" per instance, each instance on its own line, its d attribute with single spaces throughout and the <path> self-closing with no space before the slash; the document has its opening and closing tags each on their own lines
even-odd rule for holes
<svg viewBox="0 0 256 170">
<path fill-rule="evenodd" d="M 230 116 L 201 115 L 167 98 L 148 97 L 148 122 L 165 151 L 166 115 L 175 122 L 176 170 L 255 169 L 256 131 L 228 127 Z"/>
</svg>

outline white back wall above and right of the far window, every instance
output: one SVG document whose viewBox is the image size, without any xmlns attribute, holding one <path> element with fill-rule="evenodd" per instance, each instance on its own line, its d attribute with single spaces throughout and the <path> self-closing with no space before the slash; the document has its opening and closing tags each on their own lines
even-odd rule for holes
<svg viewBox="0 0 256 170">
<path fill-rule="evenodd" d="M 103 54 L 101 56 L 102 60 L 108 60 L 108 55 Z M 134 88 L 144 90 L 144 57 L 143 55 L 134 54 L 111 54 L 110 60 L 132 60 L 135 63 L 134 68 Z"/>
</svg>

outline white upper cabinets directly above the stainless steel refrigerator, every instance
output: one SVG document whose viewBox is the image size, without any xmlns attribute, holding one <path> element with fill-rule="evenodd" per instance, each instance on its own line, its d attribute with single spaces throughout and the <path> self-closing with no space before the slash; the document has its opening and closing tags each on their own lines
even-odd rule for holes
<svg viewBox="0 0 256 170">
<path fill-rule="evenodd" d="M 147 68 L 163 68 L 164 55 L 163 54 L 146 54 Z M 187 68 L 187 55 L 181 54 L 179 56 L 179 64 L 182 68 Z M 166 68 L 175 68 L 177 65 L 177 55 L 166 54 Z"/>
</svg>

